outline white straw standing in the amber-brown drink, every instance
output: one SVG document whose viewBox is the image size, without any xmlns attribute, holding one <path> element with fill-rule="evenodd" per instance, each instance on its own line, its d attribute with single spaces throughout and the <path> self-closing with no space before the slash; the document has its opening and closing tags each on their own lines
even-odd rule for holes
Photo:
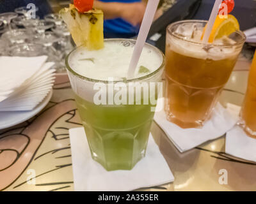
<svg viewBox="0 0 256 204">
<path fill-rule="evenodd" d="M 222 0 L 216 0 L 214 3 L 214 6 L 212 8 L 211 16 L 209 18 L 209 21 L 206 26 L 206 30 L 204 33 L 203 43 L 207 43 L 209 41 L 209 37 L 212 31 L 212 27 L 214 25 L 214 22 L 216 20 L 216 17 L 218 15 L 218 12 L 220 10 L 220 4 L 222 3 Z"/>
</svg>

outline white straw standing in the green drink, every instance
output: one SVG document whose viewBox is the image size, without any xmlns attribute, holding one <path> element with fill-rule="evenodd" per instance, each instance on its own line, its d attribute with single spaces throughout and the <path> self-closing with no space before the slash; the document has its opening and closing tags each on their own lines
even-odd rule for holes
<svg viewBox="0 0 256 204">
<path fill-rule="evenodd" d="M 159 3 L 159 0 L 148 0 L 147 8 L 141 23 L 140 32 L 138 34 L 138 38 L 136 40 L 136 44 L 132 53 L 132 59 L 129 64 L 129 70 L 128 70 L 129 79 L 133 77 L 134 71 L 138 65 L 142 49 L 145 45 L 145 41 L 147 40 L 148 31 L 150 29 L 150 26 L 154 19 L 154 15 L 157 10 L 158 3 Z"/>
</svg>

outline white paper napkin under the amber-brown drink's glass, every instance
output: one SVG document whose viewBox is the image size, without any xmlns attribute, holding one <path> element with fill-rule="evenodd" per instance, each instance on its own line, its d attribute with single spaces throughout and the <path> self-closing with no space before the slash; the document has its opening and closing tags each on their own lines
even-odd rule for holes
<svg viewBox="0 0 256 204">
<path fill-rule="evenodd" d="M 180 152 L 185 152 L 204 142 L 223 136 L 237 123 L 238 117 L 232 116 L 218 103 L 211 119 L 205 122 L 203 128 L 182 129 L 166 119 L 164 110 L 156 112 L 154 120 L 163 129 L 175 147 Z"/>
</svg>

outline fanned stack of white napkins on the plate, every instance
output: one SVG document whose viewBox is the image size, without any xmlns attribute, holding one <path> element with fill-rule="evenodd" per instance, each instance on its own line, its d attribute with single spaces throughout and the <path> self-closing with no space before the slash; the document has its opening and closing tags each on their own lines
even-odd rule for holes
<svg viewBox="0 0 256 204">
<path fill-rule="evenodd" d="M 0 57 L 0 112 L 33 110 L 54 84 L 47 56 Z"/>
</svg>

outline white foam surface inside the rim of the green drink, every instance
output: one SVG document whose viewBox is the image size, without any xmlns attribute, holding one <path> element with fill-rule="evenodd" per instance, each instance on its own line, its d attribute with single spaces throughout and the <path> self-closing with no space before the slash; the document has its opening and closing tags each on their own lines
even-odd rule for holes
<svg viewBox="0 0 256 204">
<path fill-rule="evenodd" d="M 127 78 L 131 61 L 133 44 L 129 41 L 105 41 L 100 50 L 77 48 L 69 57 L 68 64 L 76 73 L 95 80 L 114 80 Z M 163 62 L 163 56 L 152 47 L 145 45 L 141 53 L 134 78 L 143 77 L 156 71 Z M 139 73 L 140 66 L 149 69 L 147 73 Z"/>
</svg>

